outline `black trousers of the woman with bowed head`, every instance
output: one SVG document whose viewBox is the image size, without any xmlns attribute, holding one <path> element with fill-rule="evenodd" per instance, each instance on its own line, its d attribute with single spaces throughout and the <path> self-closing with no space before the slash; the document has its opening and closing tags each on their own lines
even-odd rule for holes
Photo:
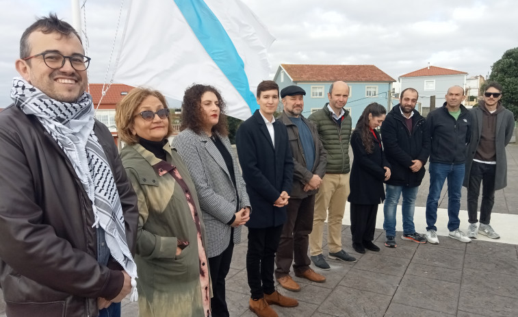
<svg viewBox="0 0 518 317">
<path fill-rule="evenodd" d="M 361 244 L 363 241 L 374 240 L 378 205 L 351 203 L 350 210 L 352 242 Z"/>
</svg>

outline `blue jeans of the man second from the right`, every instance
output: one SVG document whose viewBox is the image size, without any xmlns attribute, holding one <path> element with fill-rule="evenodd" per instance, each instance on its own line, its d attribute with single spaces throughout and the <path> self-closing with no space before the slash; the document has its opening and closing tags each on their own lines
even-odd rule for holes
<svg viewBox="0 0 518 317">
<path fill-rule="evenodd" d="M 426 230 L 437 231 L 437 206 L 441 198 L 444 181 L 448 179 L 448 230 L 454 231 L 461 225 L 458 211 L 461 209 L 461 190 L 464 181 L 464 163 L 443 164 L 430 162 L 430 190 L 426 199 Z"/>
</svg>

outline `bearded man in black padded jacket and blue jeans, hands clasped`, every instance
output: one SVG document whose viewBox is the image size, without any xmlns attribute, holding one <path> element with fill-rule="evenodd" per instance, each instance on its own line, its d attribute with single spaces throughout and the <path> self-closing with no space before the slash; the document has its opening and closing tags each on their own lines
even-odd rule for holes
<svg viewBox="0 0 518 317">
<path fill-rule="evenodd" d="M 383 206 L 383 229 L 387 235 L 385 246 L 395 248 L 396 208 L 403 196 L 403 240 L 426 243 L 415 232 L 414 210 L 417 190 L 424 177 L 424 165 L 430 155 L 430 136 L 426 120 L 415 110 L 419 93 L 414 88 L 401 92 L 400 103 L 387 114 L 381 126 L 385 156 L 392 166 L 391 177 L 386 181 L 387 198 Z"/>
</svg>

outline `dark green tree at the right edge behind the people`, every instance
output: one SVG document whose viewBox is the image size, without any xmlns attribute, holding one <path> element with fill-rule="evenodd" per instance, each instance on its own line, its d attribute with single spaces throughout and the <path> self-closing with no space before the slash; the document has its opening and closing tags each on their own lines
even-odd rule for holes
<svg viewBox="0 0 518 317">
<path fill-rule="evenodd" d="M 518 121 L 518 47 L 506 51 L 502 58 L 493 64 L 489 81 L 497 81 L 502 85 L 502 105 L 512 111 L 515 121 Z"/>
</svg>

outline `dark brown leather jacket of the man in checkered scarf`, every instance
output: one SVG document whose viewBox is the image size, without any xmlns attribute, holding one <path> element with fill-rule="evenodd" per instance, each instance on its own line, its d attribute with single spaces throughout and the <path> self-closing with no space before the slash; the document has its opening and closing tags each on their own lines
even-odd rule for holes
<svg viewBox="0 0 518 317">
<path fill-rule="evenodd" d="M 112 135 L 96 122 L 135 253 L 137 198 Z M 68 157 L 34 116 L 0 113 L 0 286 L 8 316 L 98 316 L 113 299 L 120 266 L 97 263 L 92 204 Z M 112 265 L 109 264 L 110 267 Z"/>
</svg>

